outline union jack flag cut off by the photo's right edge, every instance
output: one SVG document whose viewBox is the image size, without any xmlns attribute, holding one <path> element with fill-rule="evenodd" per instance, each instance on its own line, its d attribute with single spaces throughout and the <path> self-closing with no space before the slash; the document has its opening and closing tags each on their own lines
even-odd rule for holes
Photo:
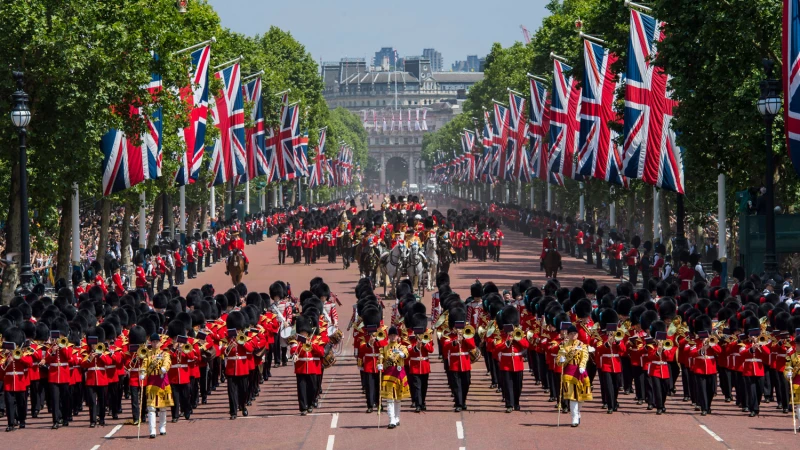
<svg viewBox="0 0 800 450">
<path fill-rule="evenodd" d="M 786 148 L 800 175 L 800 0 L 783 2 L 783 101 Z"/>
</svg>

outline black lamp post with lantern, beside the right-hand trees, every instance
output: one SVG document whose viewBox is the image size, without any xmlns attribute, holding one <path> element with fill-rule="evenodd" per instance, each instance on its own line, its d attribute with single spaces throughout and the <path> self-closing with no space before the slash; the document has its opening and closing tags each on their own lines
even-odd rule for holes
<svg viewBox="0 0 800 450">
<path fill-rule="evenodd" d="M 780 81 L 772 78 L 775 63 L 764 59 L 764 73 L 767 78 L 759 83 L 761 96 L 758 99 L 758 112 L 764 118 L 764 138 L 767 146 L 767 173 L 764 187 L 767 189 L 766 198 L 766 249 L 764 252 L 764 280 L 775 278 L 778 273 L 778 259 L 775 253 L 775 160 L 772 151 L 772 124 L 775 116 L 781 109 Z"/>
</svg>

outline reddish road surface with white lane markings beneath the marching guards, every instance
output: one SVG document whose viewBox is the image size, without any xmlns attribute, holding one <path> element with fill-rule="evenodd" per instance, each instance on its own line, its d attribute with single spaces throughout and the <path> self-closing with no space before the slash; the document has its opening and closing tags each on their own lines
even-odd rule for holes
<svg viewBox="0 0 800 450">
<path fill-rule="evenodd" d="M 308 288 L 308 281 L 321 276 L 344 305 L 339 310 L 340 325 L 346 327 L 355 302 L 353 289 L 358 281 L 355 265 L 343 270 L 341 263 L 329 264 L 327 259 L 312 266 L 302 264 L 278 265 L 277 246 L 272 239 L 246 249 L 250 257 L 250 274 L 244 282 L 248 289 L 267 292 L 275 280 L 291 283 L 294 295 Z M 474 280 L 494 281 L 502 290 L 520 279 L 531 278 L 538 285 L 545 282 L 538 270 L 541 242 L 519 233 L 506 231 L 499 263 L 469 261 L 450 269 L 452 286 L 468 296 Z M 605 272 L 574 258 L 564 258 L 560 274 L 563 285 L 572 287 L 584 277 L 594 277 L 599 283 L 614 283 Z M 212 283 L 224 291 L 231 283 L 222 264 L 187 280 L 181 291 Z M 430 294 L 424 302 L 430 308 Z M 386 319 L 388 320 L 388 309 Z M 380 447 L 382 450 L 462 450 L 560 448 L 591 446 L 594 449 L 620 448 L 798 448 L 800 438 L 792 432 L 792 418 L 775 410 L 775 404 L 762 404 L 761 416 L 749 418 L 733 403 L 715 398 L 713 414 L 700 416 L 681 397 L 667 400 L 667 413 L 656 416 L 645 406 L 637 406 L 633 395 L 620 395 L 620 409 L 608 415 L 598 400 L 585 403 L 581 425 L 569 426 L 569 415 L 557 413 L 554 404 L 526 372 L 521 399 L 522 411 L 506 414 L 500 394 L 489 388 L 489 377 L 482 362 L 472 372 L 472 387 L 467 399 L 468 410 L 453 412 L 452 400 L 440 361 L 433 360 L 433 373 L 428 390 L 428 410 L 415 414 L 410 402 L 403 402 L 400 426 L 386 429 L 385 413 L 366 413 L 361 394 L 358 369 L 352 355 L 352 337 L 345 333 L 342 355 L 325 371 L 320 407 L 313 414 L 301 417 L 297 407 L 296 383 L 291 366 L 272 370 L 273 377 L 261 385 L 261 395 L 248 408 L 250 415 L 230 420 L 227 392 L 224 385 L 209 396 L 191 420 L 168 423 L 167 435 L 148 439 L 146 424 L 141 440 L 137 428 L 122 425 L 130 414 L 130 404 L 123 400 L 125 415 L 120 420 L 107 419 L 105 427 L 88 427 L 87 413 L 76 417 L 72 426 L 50 430 L 51 418 L 43 413 L 38 419 L 28 419 L 25 430 L 2 435 L 5 448 L 43 447 L 59 449 L 125 449 L 171 448 L 206 446 L 227 449 L 360 449 Z M 680 386 L 678 393 L 681 393 Z M 560 421 L 560 426 L 559 426 Z"/>
</svg>

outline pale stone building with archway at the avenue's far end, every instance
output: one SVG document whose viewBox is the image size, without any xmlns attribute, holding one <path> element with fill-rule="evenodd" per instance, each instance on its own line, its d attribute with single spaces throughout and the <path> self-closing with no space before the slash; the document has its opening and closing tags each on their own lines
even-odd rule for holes
<svg viewBox="0 0 800 450">
<path fill-rule="evenodd" d="M 328 107 L 358 114 L 369 134 L 369 156 L 379 164 L 380 187 L 427 182 L 422 137 L 461 112 L 481 72 L 437 72 L 426 58 L 406 58 L 404 71 L 369 67 L 346 58 L 322 64 Z M 405 173 L 401 173 L 405 172 Z"/>
</svg>

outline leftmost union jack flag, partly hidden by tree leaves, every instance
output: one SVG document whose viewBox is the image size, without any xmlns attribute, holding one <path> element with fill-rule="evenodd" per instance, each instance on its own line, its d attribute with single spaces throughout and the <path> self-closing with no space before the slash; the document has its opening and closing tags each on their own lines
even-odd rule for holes
<svg viewBox="0 0 800 450">
<path fill-rule="evenodd" d="M 158 55 L 153 53 L 153 59 L 157 61 Z M 150 83 L 145 88 L 152 100 L 161 91 L 161 75 L 152 73 Z M 131 117 L 143 120 L 146 131 L 140 143 L 131 141 L 122 130 L 117 129 L 109 130 L 100 140 L 104 196 L 161 176 L 161 108 L 157 108 L 149 117 L 144 114 L 143 107 L 131 106 L 128 113 Z"/>
</svg>

